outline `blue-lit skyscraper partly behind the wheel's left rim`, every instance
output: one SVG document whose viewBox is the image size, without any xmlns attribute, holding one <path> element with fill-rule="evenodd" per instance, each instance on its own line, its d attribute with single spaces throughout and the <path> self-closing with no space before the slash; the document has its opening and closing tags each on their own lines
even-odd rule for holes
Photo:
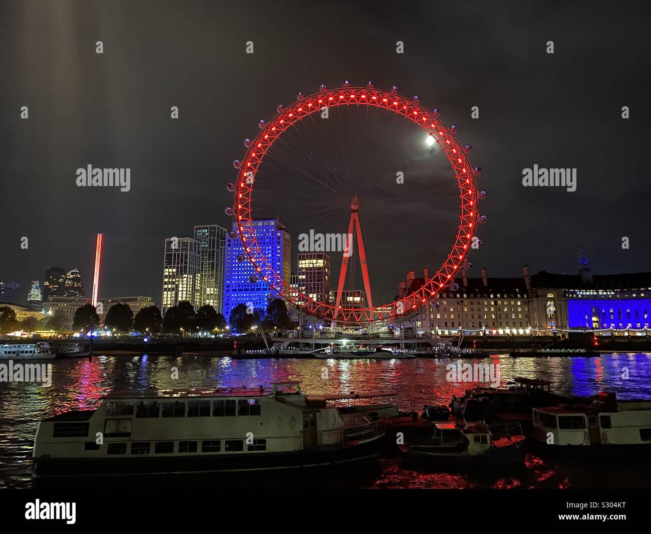
<svg viewBox="0 0 651 534">
<path fill-rule="evenodd" d="M 236 228 L 236 223 L 233 223 L 233 230 L 236 231 Z M 292 237 L 275 219 L 254 220 L 253 231 L 262 253 L 274 271 L 283 276 L 283 280 L 290 282 Z M 243 255 L 243 261 L 238 261 L 238 255 Z M 224 317 L 228 319 L 231 310 L 238 304 L 253 303 L 254 308 L 266 308 L 270 293 L 271 288 L 267 282 L 256 274 L 239 235 L 227 235 L 222 311 Z"/>
</svg>

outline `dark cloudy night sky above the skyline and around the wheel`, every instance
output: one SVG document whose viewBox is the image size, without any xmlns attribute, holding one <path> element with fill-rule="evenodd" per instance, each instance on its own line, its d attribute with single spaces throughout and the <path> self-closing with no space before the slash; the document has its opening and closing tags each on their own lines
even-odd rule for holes
<svg viewBox="0 0 651 534">
<path fill-rule="evenodd" d="M 235 179 L 243 138 L 256 136 L 258 120 L 271 119 L 277 103 L 344 80 L 419 95 L 473 145 L 488 223 L 478 234 L 485 245 L 470 256 L 471 276 L 481 267 L 489 277 L 521 276 L 525 264 L 532 273 L 574 273 L 581 245 L 596 274 L 648 271 L 651 50 L 642 6 L 1 1 L 0 280 L 20 282 L 24 302 L 29 280 L 42 281 L 48 267 L 78 267 L 90 296 L 99 232 L 100 297 L 148 295 L 159 303 L 164 238 L 190 236 L 195 224 L 230 227 L 225 185 Z M 245 53 L 249 40 L 253 54 Z M 388 135 L 378 131 L 376 150 Z M 355 152 L 360 161 L 372 160 L 371 146 Z M 130 168 L 131 190 L 77 187 L 76 170 L 88 164 Z M 534 164 L 576 168 L 576 191 L 523 187 L 522 171 Z M 416 178 L 409 183 L 408 173 L 394 185 L 391 165 L 373 179 L 396 188 L 395 212 L 391 203 L 368 212 L 393 228 L 367 237 L 371 281 L 382 295 L 397 287 L 398 273 L 432 268 L 430 247 L 449 241 L 432 217 L 458 213 L 454 199 L 431 198 L 431 211 L 415 209 L 405 222 L 401 211 L 411 201 L 422 206 L 428 189 Z M 320 194 L 320 202 L 342 206 L 341 219 L 322 231 L 346 231 L 349 193 Z M 298 221 L 286 222 L 293 256 L 298 232 L 317 227 L 309 226 L 311 207 L 302 209 L 303 220 L 296 205 L 287 215 Z"/>
</svg>

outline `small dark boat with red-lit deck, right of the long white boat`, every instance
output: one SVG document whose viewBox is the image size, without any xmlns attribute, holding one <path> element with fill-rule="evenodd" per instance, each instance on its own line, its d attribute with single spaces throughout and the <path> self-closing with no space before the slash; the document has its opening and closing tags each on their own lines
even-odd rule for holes
<svg viewBox="0 0 651 534">
<path fill-rule="evenodd" d="M 483 422 L 434 423 L 434 436 L 415 439 L 398 447 L 408 466 L 449 466 L 450 464 L 521 464 L 525 458 L 525 436 L 519 425 L 493 435 Z"/>
</svg>

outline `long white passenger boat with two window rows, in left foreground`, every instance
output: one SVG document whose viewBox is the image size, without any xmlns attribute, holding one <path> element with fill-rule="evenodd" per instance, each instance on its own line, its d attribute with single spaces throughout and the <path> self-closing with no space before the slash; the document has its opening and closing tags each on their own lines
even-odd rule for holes
<svg viewBox="0 0 651 534">
<path fill-rule="evenodd" d="M 271 389 L 124 391 L 94 411 L 40 421 L 35 477 L 258 471 L 372 458 L 383 420 L 301 393 Z M 101 438 L 101 439 L 100 439 Z"/>
</svg>

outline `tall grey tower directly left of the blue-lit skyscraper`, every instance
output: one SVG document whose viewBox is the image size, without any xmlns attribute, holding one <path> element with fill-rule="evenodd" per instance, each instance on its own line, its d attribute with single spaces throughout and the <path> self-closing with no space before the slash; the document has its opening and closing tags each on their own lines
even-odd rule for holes
<svg viewBox="0 0 651 534">
<path fill-rule="evenodd" d="M 226 233 L 226 228 L 219 224 L 195 226 L 195 240 L 199 243 L 197 308 L 210 304 L 221 313 Z"/>
</svg>

